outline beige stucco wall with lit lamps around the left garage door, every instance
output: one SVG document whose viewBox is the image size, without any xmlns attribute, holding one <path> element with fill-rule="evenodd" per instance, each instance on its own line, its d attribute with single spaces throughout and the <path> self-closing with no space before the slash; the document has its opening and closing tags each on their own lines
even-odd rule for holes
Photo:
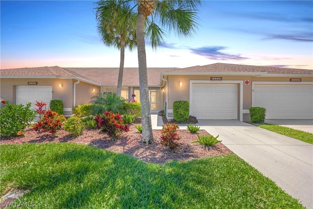
<svg viewBox="0 0 313 209">
<path fill-rule="evenodd" d="M 52 99 L 63 101 L 64 108 L 73 107 L 73 91 L 75 79 L 28 79 L 28 78 L 1 78 L 0 95 L 3 99 L 9 100 L 10 103 L 16 103 L 16 86 L 28 86 L 27 82 L 38 82 L 36 86 L 52 86 Z M 62 84 L 62 89 L 59 84 Z M 92 93 L 92 88 L 95 92 Z M 80 82 L 76 84 L 76 106 L 88 104 L 91 97 L 98 94 L 98 87 L 89 83 Z"/>
</svg>

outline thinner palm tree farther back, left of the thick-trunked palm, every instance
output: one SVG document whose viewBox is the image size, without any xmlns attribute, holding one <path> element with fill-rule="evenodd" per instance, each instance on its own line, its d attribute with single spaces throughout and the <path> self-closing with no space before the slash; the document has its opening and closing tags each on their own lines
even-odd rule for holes
<svg viewBox="0 0 313 209">
<path fill-rule="evenodd" d="M 100 0 L 97 2 L 96 19 L 98 34 L 107 46 L 120 49 L 120 65 L 116 94 L 121 95 L 125 47 L 132 51 L 136 46 L 136 13 L 125 0 Z"/>
</svg>

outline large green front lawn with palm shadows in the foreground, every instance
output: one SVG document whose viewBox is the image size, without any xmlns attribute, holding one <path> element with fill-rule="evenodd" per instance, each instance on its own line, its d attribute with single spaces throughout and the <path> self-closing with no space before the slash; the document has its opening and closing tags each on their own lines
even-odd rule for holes
<svg viewBox="0 0 313 209">
<path fill-rule="evenodd" d="M 35 208 L 304 208 L 234 154 L 152 164 L 75 143 L 0 145 L 0 193 Z"/>
</svg>

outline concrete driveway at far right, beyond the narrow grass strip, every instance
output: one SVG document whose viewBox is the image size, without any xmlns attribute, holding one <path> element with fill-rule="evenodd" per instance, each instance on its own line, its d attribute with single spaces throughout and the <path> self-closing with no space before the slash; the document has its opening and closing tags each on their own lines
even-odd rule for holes
<svg viewBox="0 0 313 209">
<path fill-rule="evenodd" d="M 313 133 L 313 120 L 273 120 L 273 119 L 266 119 L 266 123 L 275 124 L 275 125 L 282 125 L 289 128 Z"/>
</svg>

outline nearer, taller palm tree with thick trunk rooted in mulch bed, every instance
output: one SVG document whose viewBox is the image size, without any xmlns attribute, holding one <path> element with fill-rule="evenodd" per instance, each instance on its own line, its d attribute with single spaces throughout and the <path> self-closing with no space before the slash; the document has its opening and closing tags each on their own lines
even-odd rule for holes
<svg viewBox="0 0 313 209">
<path fill-rule="evenodd" d="M 139 90 L 141 103 L 142 141 L 153 142 L 150 103 L 148 94 L 148 77 L 145 37 L 147 33 L 152 47 L 159 46 L 162 35 L 167 28 L 180 37 L 191 36 L 197 28 L 197 6 L 201 0 L 138 0 L 136 22 L 136 40 L 138 50 Z M 148 17 L 151 16 L 151 19 Z M 159 23 L 159 25 L 157 24 Z M 146 28 L 145 28 L 146 24 Z M 145 30 L 146 29 L 146 30 Z"/>
</svg>

